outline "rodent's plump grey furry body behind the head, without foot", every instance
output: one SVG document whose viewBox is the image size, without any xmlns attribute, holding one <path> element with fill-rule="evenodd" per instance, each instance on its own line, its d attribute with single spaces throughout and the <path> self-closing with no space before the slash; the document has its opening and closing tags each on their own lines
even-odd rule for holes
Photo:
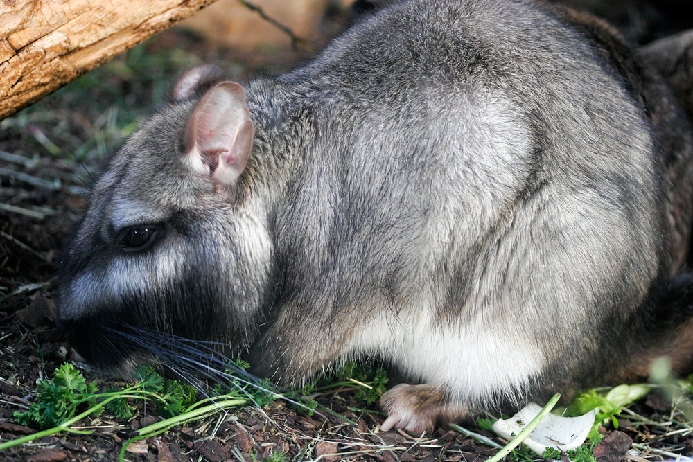
<svg viewBox="0 0 693 462">
<path fill-rule="evenodd" d="M 396 321 L 414 313 L 521 352 L 508 387 L 586 357 L 612 321 L 631 335 L 665 266 L 665 186 L 651 121 L 586 37 L 525 3 L 407 2 L 279 83 L 314 137 L 277 207 L 268 374 L 375 351 L 440 378 L 429 330 Z M 473 351 L 455 355 L 480 366 Z"/>
</svg>

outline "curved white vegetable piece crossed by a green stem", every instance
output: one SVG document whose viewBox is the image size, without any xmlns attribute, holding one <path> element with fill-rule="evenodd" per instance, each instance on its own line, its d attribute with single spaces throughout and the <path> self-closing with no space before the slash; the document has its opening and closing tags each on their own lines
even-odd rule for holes
<svg viewBox="0 0 693 462">
<path fill-rule="evenodd" d="M 499 436 L 509 440 L 522 432 L 525 425 L 530 423 L 539 414 L 539 411 L 541 411 L 541 406 L 530 402 L 508 420 L 498 419 L 493 424 L 493 430 Z M 543 454 L 547 447 L 554 447 L 563 451 L 574 450 L 585 442 L 594 423 L 594 410 L 579 417 L 547 414 L 523 443 L 539 455 Z"/>
</svg>

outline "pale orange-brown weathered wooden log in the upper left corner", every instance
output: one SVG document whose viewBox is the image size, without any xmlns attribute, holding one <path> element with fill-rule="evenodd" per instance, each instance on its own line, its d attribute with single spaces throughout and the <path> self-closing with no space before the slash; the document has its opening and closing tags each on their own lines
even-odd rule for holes
<svg viewBox="0 0 693 462">
<path fill-rule="evenodd" d="M 0 120 L 215 0 L 0 0 Z"/>
</svg>

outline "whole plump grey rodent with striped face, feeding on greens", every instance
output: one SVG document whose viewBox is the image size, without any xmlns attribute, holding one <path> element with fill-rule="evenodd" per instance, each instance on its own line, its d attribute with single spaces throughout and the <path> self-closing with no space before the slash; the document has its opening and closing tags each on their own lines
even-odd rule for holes
<svg viewBox="0 0 693 462">
<path fill-rule="evenodd" d="M 380 357 L 416 383 L 385 394 L 385 429 L 659 355 L 685 373 L 690 130 L 600 21 L 395 3 L 279 78 L 186 74 L 94 186 L 59 321 L 102 369 L 182 338 L 279 384 Z"/>
</svg>

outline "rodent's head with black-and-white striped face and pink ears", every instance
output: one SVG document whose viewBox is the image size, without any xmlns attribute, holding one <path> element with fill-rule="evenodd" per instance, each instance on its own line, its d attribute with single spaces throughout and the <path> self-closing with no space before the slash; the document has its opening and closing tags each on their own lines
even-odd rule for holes
<svg viewBox="0 0 693 462">
<path fill-rule="evenodd" d="M 240 190 L 245 94 L 221 82 L 194 98 L 204 79 L 186 77 L 111 159 L 60 261 L 58 322 L 102 370 L 175 356 L 179 337 L 233 352 L 263 319 L 272 245 L 258 200 Z"/>
</svg>

